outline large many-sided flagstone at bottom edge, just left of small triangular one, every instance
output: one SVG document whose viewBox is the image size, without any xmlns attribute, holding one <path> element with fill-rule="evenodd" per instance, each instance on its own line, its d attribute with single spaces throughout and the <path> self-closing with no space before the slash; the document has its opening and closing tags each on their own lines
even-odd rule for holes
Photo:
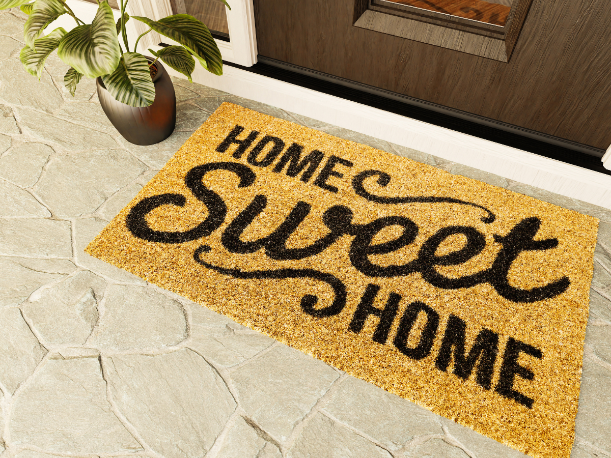
<svg viewBox="0 0 611 458">
<path fill-rule="evenodd" d="M 189 349 L 103 359 L 119 410 L 165 457 L 201 458 L 236 408 L 221 377 Z"/>
</svg>

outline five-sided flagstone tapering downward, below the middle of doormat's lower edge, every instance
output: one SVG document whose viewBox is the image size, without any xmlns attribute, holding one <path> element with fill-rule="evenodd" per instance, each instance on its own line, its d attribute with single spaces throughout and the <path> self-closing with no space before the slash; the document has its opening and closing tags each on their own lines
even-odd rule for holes
<svg viewBox="0 0 611 458">
<path fill-rule="evenodd" d="M 279 345 L 236 369 L 232 380 L 244 410 L 285 442 L 339 376 L 322 361 Z"/>
</svg>

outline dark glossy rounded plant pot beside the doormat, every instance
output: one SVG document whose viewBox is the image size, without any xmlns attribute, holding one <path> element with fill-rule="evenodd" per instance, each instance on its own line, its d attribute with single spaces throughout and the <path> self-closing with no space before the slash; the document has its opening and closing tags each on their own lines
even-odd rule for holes
<svg viewBox="0 0 611 458">
<path fill-rule="evenodd" d="M 147 57 L 148 62 L 153 62 Z M 159 60 L 155 62 L 157 75 L 155 101 L 151 106 L 133 107 L 117 102 L 97 78 L 98 98 L 106 116 L 128 142 L 136 145 L 153 145 L 167 139 L 176 126 L 176 94 L 166 69 Z"/>
</svg>

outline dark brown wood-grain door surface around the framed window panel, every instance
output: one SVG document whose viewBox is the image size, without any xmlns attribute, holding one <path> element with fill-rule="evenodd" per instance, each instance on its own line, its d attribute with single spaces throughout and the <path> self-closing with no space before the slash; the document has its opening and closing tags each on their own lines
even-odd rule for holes
<svg viewBox="0 0 611 458">
<path fill-rule="evenodd" d="M 535 0 L 510 62 L 353 26 L 354 0 L 254 0 L 258 52 L 607 149 L 608 0 Z"/>
</svg>

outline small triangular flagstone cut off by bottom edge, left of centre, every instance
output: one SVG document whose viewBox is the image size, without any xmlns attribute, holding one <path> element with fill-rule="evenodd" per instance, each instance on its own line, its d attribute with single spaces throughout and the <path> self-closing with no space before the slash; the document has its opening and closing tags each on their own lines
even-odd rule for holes
<svg viewBox="0 0 611 458">
<path fill-rule="evenodd" d="M 240 417 L 225 435 L 216 458 L 282 458 L 282 454 Z"/>
</svg>

